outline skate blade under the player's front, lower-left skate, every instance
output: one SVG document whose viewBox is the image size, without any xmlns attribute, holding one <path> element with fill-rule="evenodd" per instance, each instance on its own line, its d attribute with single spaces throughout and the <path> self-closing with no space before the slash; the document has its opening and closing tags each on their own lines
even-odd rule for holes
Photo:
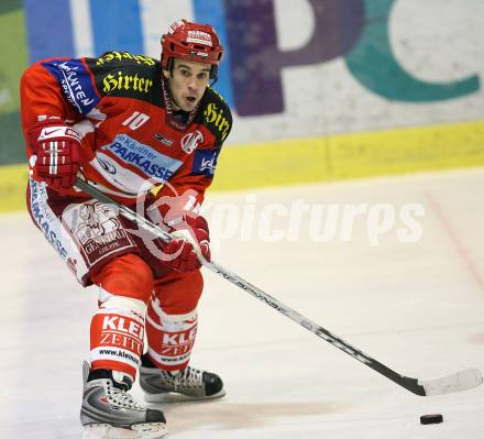
<svg viewBox="0 0 484 439">
<path fill-rule="evenodd" d="M 168 435 L 165 424 L 136 424 L 128 428 L 108 424 L 92 424 L 84 427 L 81 439 L 162 439 Z"/>
</svg>

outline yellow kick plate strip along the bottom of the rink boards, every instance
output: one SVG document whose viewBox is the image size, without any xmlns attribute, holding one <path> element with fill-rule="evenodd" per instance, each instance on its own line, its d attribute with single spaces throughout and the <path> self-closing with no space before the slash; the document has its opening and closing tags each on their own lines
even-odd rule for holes
<svg viewBox="0 0 484 439">
<path fill-rule="evenodd" d="M 484 121 L 226 146 L 210 190 L 484 166 Z M 0 211 L 25 209 L 26 165 L 0 168 Z"/>
</svg>

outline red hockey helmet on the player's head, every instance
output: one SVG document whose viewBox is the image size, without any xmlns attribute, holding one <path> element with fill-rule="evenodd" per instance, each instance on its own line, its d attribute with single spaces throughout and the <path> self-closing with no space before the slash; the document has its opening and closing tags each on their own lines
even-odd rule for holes
<svg viewBox="0 0 484 439">
<path fill-rule="evenodd" d="M 175 21 L 162 36 L 162 68 L 170 70 L 173 58 L 210 64 L 210 78 L 217 79 L 223 46 L 210 24 L 191 23 L 185 19 Z"/>
</svg>

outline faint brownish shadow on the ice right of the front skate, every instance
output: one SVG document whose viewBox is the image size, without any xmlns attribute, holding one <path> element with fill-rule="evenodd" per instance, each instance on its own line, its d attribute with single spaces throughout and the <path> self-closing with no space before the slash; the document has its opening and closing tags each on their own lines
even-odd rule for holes
<svg viewBox="0 0 484 439">
<path fill-rule="evenodd" d="M 279 424 L 280 420 L 306 416 L 323 416 L 348 408 L 331 402 L 292 403 L 231 403 L 230 399 L 211 402 L 150 405 L 161 408 L 172 433 L 200 428 L 250 429 Z"/>
</svg>

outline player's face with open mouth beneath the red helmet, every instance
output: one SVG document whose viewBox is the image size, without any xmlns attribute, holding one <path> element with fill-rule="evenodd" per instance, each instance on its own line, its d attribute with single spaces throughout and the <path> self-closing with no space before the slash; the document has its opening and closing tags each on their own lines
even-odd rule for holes
<svg viewBox="0 0 484 439">
<path fill-rule="evenodd" d="M 168 79 L 175 110 L 191 111 L 208 86 L 210 66 L 175 58 L 173 74 L 166 70 L 163 74 Z"/>
</svg>

